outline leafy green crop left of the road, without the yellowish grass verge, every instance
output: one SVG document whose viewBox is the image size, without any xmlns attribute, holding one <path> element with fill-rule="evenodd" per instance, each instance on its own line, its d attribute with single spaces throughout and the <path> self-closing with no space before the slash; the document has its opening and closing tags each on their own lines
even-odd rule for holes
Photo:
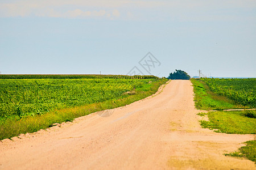
<svg viewBox="0 0 256 170">
<path fill-rule="evenodd" d="M 3 79 L 0 120 L 125 97 L 156 79 Z"/>
</svg>

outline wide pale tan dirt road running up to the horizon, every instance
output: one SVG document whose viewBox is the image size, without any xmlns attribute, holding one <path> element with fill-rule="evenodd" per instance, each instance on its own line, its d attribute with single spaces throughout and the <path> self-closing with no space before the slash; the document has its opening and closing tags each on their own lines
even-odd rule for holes
<svg viewBox="0 0 256 170">
<path fill-rule="evenodd" d="M 113 112 L 113 113 L 112 113 Z M 111 110 L 0 142 L 0 169 L 255 169 L 223 154 L 254 135 L 202 129 L 189 80 Z"/>
</svg>

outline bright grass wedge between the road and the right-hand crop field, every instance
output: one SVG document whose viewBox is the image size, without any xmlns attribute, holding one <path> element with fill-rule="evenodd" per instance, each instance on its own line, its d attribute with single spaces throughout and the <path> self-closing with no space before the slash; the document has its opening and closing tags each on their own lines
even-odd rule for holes
<svg viewBox="0 0 256 170">
<path fill-rule="evenodd" d="M 197 109 L 221 111 L 223 109 L 244 108 L 225 96 L 214 94 L 200 79 L 191 79 L 191 82 L 193 84 L 194 100 Z"/>
</svg>

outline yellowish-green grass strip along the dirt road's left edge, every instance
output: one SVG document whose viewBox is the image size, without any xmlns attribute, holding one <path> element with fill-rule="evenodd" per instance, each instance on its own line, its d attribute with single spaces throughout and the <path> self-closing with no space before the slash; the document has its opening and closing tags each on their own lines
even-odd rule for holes
<svg viewBox="0 0 256 170">
<path fill-rule="evenodd" d="M 150 85 L 146 84 L 146 86 L 135 89 L 133 94 L 126 94 L 126 97 L 122 97 L 121 99 L 112 99 L 80 107 L 56 110 L 39 116 L 24 117 L 20 120 L 7 120 L 0 126 L 0 140 L 15 137 L 23 133 L 33 133 L 40 129 L 47 129 L 54 123 L 72 121 L 74 118 L 85 116 L 93 112 L 113 109 L 133 103 L 134 101 L 155 94 L 158 88 L 166 82 L 167 79 L 159 79 L 158 81 L 150 83 Z"/>
</svg>

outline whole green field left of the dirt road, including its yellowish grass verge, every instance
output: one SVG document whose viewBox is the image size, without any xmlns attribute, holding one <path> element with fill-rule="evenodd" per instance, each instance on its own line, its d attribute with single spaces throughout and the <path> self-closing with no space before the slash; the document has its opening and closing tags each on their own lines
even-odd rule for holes
<svg viewBox="0 0 256 170">
<path fill-rule="evenodd" d="M 155 76 L 28 77 L 33 78 L 0 79 L 0 139 L 133 103 L 167 81 Z"/>
</svg>

